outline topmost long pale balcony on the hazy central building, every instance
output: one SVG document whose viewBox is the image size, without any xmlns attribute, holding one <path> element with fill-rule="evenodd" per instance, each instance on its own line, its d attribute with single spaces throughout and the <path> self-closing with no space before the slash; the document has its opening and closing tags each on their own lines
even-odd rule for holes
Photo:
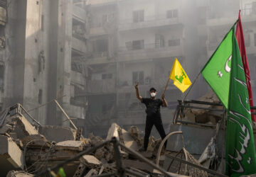
<svg viewBox="0 0 256 177">
<path fill-rule="evenodd" d="M 176 25 L 178 27 L 183 27 L 181 23 L 181 18 L 166 18 L 166 15 L 161 16 L 145 16 L 144 21 L 134 23 L 133 19 L 122 20 L 119 22 L 119 31 L 124 30 L 134 30 L 143 28 L 154 28 L 166 25 Z"/>
</svg>

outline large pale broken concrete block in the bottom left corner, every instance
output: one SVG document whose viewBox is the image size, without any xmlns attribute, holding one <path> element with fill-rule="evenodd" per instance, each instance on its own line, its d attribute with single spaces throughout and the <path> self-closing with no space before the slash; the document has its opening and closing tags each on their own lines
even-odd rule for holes
<svg viewBox="0 0 256 177">
<path fill-rule="evenodd" d="M 6 176 L 11 170 L 22 170 L 24 167 L 23 152 L 11 139 L 0 135 L 0 174 Z"/>
</svg>

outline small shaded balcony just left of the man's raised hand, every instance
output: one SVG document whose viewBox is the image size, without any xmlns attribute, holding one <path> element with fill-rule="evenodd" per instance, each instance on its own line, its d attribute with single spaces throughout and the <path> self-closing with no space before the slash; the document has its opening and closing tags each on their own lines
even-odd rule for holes
<svg viewBox="0 0 256 177">
<path fill-rule="evenodd" d="M 104 94 L 116 91 L 116 81 L 114 79 L 102 79 L 87 81 L 87 93 Z"/>
</svg>

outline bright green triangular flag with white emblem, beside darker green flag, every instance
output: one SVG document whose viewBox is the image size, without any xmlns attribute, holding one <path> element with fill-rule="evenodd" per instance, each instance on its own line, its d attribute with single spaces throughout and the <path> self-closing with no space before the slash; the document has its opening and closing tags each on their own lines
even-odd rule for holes
<svg viewBox="0 0 256 177">
<path fill-rule="evenodd" d="M 201 72 L 225 108 L 228 108 L 232 35 L 230 30 Z"/>
</svg>

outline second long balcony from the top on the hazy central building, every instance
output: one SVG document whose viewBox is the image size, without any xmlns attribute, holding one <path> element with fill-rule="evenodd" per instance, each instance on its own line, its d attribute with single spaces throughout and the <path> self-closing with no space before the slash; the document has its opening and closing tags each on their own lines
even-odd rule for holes
<svg viewBox="0 0 256 177">
<path fill-rule="evenodd" d="M 145 59 L 156 59 L 164 57 L 178 57 L 183 56 L 183 43 L 178 46 L 159 47 L 156 44 L 144 45 L 142 50 L 127 50 L 127 47 L 119 47 L 118 59 L 119 62 L 136 61 Z"/>
</svg>

